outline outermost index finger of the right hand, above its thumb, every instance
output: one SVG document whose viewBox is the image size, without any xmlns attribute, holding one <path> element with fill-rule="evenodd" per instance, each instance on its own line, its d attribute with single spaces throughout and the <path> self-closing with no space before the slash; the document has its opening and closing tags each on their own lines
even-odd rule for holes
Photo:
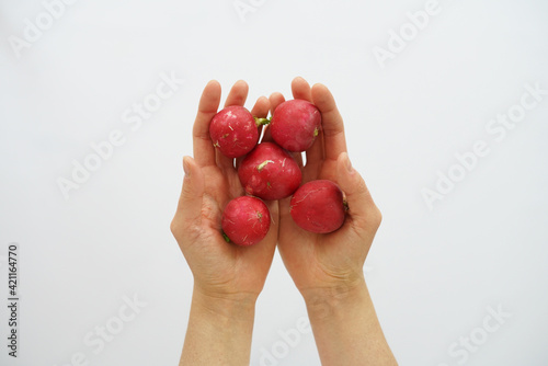
<svg viewBox="0 0 548 366">
<path fill-rule="evenodd" d="M 321 112 L 326 159 L 336 160 L 341 152 L 346 151 L 342 116 L 336 108 L 333 95 L 326 85 L 312 87 L 312 101 Z"/>
</svg>

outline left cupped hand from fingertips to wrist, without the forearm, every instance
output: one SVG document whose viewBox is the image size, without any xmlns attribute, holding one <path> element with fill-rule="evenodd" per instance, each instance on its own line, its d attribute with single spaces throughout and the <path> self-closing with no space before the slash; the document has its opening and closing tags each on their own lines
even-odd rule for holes
<svg viewBox="0 0 548 366">
<path fill-rule="evenodd" d="M 243 105 L 248 84 L 238 81 L 225 106 Z M 256 299 L 272 264 L 277 240 L 277 203 L 266 203 L 272 224 L 266 237 L 253 247 L 229 244 L 221 235 L 224 207 L 243 195 L 233 159 L 222 156 L 213 146 L 209 123 L 217 113 L 220 85 L 210 81 L 202 94 L 193 128 L 194 159 L 184 157 L 183 190 L 171 222 L 181 251 L 194 275 L 195 291 L 209 297 Z M 266 117 L 270 102 L 260 98 L 251 114 Z"/>
</svg>

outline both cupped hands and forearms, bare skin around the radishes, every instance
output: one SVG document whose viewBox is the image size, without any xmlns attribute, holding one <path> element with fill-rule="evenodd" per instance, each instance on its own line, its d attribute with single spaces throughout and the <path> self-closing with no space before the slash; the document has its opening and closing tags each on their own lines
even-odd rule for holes
<svg viewBox="0 0 548 366">
<path fill-rule="evenodd" d="M 209 122 L 220 103 L 220 85 L 204 89 L 193 128 L 194 159 L 185 157 L 185 178 L 171 230 L 194 275 L 191 314 L 180 365 L 249 365 L 255 301 L 277 248 L 302 295 L 322 365 L 397 365 L 383 334 L 363 266 L 381 215 L 346 153 L 342 117 L 330 91 L 302 78 L 292 83 L 295 99 L 308 100 L 322 114 L 322 130 L 296 155 L 305 182 L 328 179 L 346 195 L 343 227 L 316 235 L 295 225 L 289 198 L 267 202 L 272 225 L 253 247 L 227 243 L 220 232 L 222 208 L 243 190 L 233 160 L 216 151 Z M 238 81 L 225 105 L 243 105 L 248 85 Z M 260 98 L 251 113 L 266 117 L 284 96 Z M 265 134 L 270 139 L 270 134 Z"/>
</svg>

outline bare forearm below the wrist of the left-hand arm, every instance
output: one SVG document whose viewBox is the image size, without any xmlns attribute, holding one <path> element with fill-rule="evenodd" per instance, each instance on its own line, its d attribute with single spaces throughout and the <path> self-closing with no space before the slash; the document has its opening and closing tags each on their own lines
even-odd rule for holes
<svg viewBox="0 0 548 366">
<path fill-rule="evenodd" d="M 212 297 L 194 288 L 180 366 L 249 365 L 255 298 Z"/>
</svg>

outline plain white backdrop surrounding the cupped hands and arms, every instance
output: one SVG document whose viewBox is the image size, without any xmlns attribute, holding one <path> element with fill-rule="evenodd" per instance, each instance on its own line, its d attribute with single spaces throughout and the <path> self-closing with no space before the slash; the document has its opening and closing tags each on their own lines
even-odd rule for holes
<svg viewBox="0 0 548 366">
<path fill-rule="evenodd" d="M 21 247 L 19 357 L 8 357 L 2 305 L 0 364 L 176 365 L 192 275 L 169 224 L 202 89 L 217 79 L 225 98 L 243 79 L 251 107 L 274 91 L 290 96 L 302 76 L 335 95 L 350 157 L 384 214 L 365 273 L 399 363 L 547 365 L 548 95 L 504 138 L 486 128 L 518 111 L 526 84 L 548 90 L 548 3 L 439 0 L 379 62 L 375 47 L 388 49 L 426 1 L 242 2 L 253 11 L 240 16 L 232 0 L 80 0 L 20 57 L 10 39 L 24 39 L 25 19 L 36 24 L 45 7 L 0 3 L 0 304 L 8 244 Z M 162 73 L 184 83 L 133 130 L 122 115 Z M 116 129 L 125 142 L 66 199 L 58 179 Z M 458 176 L 455 155 L 478 140 L 489 153 Z M 436 190 L 438 171 L 461 180 L 431 209 L 423 190 Z M 125 296 L 146 306 L 102 350 L 90 346 Z M 489 309 L 510 314 L 494 332 L 483 328 Z M 251 364 L 319 365 L 310 333 L 281 343 L 305 314 L 276 253 Z M 265 353 L 275 363 L 261 363 Z"/>
</svg>

